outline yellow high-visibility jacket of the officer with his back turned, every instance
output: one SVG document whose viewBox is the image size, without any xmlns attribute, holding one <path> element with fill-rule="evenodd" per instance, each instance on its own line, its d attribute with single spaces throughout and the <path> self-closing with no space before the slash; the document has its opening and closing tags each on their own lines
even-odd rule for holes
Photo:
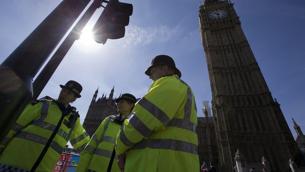
<svg viewBox="0 0 305 172">
<path fill-rule="evenodd" d="M 197 109 L 191 88 L 177 75 L 152 82 L 116 141 L 127 152 L 124 172 L 198 172 Z"/>
</svg>

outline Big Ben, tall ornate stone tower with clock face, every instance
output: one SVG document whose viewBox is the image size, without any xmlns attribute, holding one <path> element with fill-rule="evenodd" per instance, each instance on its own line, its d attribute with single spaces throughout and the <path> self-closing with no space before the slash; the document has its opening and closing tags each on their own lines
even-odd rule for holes
<svg viewBox="0 0 305 172">
<path fill-rule="evenodd" d="M 272 172 L 286 171 L 289 159 L 303 166 L 300 150 L 271 95 L 233 3 L 204 0 L 199 22 L 222 171 L 232 171 L 238 149 L 247 162 L 262 163 L 262 157 L 266 158 Z"/>
</svg>

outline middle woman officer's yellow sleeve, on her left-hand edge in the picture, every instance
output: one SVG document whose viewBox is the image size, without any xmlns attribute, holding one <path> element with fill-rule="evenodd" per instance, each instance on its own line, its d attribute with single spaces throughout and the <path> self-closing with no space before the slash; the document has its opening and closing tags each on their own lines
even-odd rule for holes
<svg viewBox="0 0 305 172">
<path fill-rule="evenodd" d="M 98 126 L 97 130 L 93 134 L 92 138 L 90 139 L 89 143 L 85 147 L 85 150 L 82 151 L 79 163 L 77 164 L 77 168 L 75 172 L 87 172 L 88 168 L 91 163 L 91 159 L 93 154 L 98 146 L 99 140 L 101 139 L 102 133 L 105 127 L 105 121 L 108 118 L 102 121 L 102 123 Z"/>
</svg>

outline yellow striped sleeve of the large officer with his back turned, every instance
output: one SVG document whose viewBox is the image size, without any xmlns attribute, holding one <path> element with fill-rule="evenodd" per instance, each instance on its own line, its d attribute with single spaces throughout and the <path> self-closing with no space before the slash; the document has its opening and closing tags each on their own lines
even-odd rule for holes
<svg viewBox="0 0 305 172">
<path fill-rule="evenodd" d="M 124 121 L 117 137 L 117 154 L 122 155 L 143 138 L 164 130 L 179 108 L 184 108 L 187 88 L 175 76 L 153 82 L 149 92 L 136 103 L 133 116 Z"/>
</svg>

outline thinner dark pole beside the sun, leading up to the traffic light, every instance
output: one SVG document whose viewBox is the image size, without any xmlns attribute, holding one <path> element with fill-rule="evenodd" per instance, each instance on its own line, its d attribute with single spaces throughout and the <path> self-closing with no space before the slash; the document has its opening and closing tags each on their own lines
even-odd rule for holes
<svg viewBox="0 0 305 172">
<path fill-rule="evenodd" d="M 69 49 L 72 47 L 75 40 L 79 39 L 82 30 L 85 28 L 86 24 L 92 17 L 93 13 L 97 8 L 100 7 L 102 0 L 94 0 L 90 7 L 86 10 L 84 15 L 72 29 L 70 34 L 64 39 L 60 47 L 56 50 L 52 58 L 46 64 L 46 66 L 41 70 L 37 78 L 33 82 L 33 97 L 31 101 L 38 98 L 43 88 L 46 86 L 50 78 L 52 77 L 55 70 L 60 65 L 62 59 L 67 54 Z M 31 102 L 30 101 L 30 102 Z"/>
</svg>

